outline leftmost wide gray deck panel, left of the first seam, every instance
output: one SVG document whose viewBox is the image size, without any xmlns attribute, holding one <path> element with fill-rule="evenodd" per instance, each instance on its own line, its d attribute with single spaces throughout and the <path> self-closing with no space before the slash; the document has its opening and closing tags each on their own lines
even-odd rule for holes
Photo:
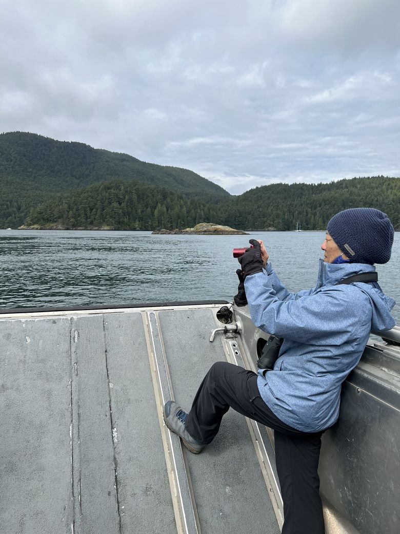
<svg viewBox="0 0 400 534">
<path fill-rule="evenodd" d="M 0 320 L 0 525 L 71 532 L 69 319 Z"/>
</svg>

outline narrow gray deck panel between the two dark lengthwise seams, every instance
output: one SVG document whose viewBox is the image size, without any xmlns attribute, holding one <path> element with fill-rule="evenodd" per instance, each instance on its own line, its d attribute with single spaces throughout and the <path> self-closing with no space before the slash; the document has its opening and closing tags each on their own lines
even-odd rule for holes
<svg viewBox="0 0 400 534">
<path fill-rule="evenodd" d="M 80 459 L 74 467 L 74 493 L 77 500 L 80 482 L 82 509 L 78 524 L 84 534 L 119 534 L 102 315 L 73 319 L 71 347 L 77 364 L 74 380 L 78 385 L 77 396 L 73 398 L 73 411 L 78 414 L 73 453 L 79 454 Z"/>
</svg>

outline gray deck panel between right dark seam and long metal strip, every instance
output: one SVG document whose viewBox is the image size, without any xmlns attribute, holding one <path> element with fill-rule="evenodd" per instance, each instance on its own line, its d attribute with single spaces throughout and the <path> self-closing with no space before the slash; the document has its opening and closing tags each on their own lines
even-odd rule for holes
<svg viewBox="0 0 400 534">
<path fill-rule="evenodd" d="M 141 314 L 104 316 L 123 534 L 176 534 Z"/>
</svg>

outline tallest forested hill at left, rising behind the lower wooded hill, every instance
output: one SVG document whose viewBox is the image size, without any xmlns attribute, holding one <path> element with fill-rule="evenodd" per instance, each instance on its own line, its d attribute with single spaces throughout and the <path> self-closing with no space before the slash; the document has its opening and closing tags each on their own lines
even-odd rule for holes
<svg viewBox="0 0 400 534">
<path fill-rule="evenodd" d="M 0 227 L 22 224 L 30 209 L 54 193 L 115 179 L 135 179 L 211 202 L 229 198 L 222 187 L 190 170 L 83 143 L 8 132 L 0 134 Z"/>
</svg>

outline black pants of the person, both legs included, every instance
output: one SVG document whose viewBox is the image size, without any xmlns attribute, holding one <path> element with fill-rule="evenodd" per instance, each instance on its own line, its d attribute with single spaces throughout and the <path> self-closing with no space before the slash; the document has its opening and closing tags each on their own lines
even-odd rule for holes
<svg viewBox="0 0 400 534">
<path fill-rule="evenodd" d="M 324 534 L 318 476 L 322 433 L 309 434 L 287 426 L 260 397 L 257 374 L 217 362 L 205 375 L 191 406 L 186 419 L 189 434 L 200 443 L 210 443 L 229 407 L 275 430 L 284 507 L 282 534 Z"/>
</svg>

